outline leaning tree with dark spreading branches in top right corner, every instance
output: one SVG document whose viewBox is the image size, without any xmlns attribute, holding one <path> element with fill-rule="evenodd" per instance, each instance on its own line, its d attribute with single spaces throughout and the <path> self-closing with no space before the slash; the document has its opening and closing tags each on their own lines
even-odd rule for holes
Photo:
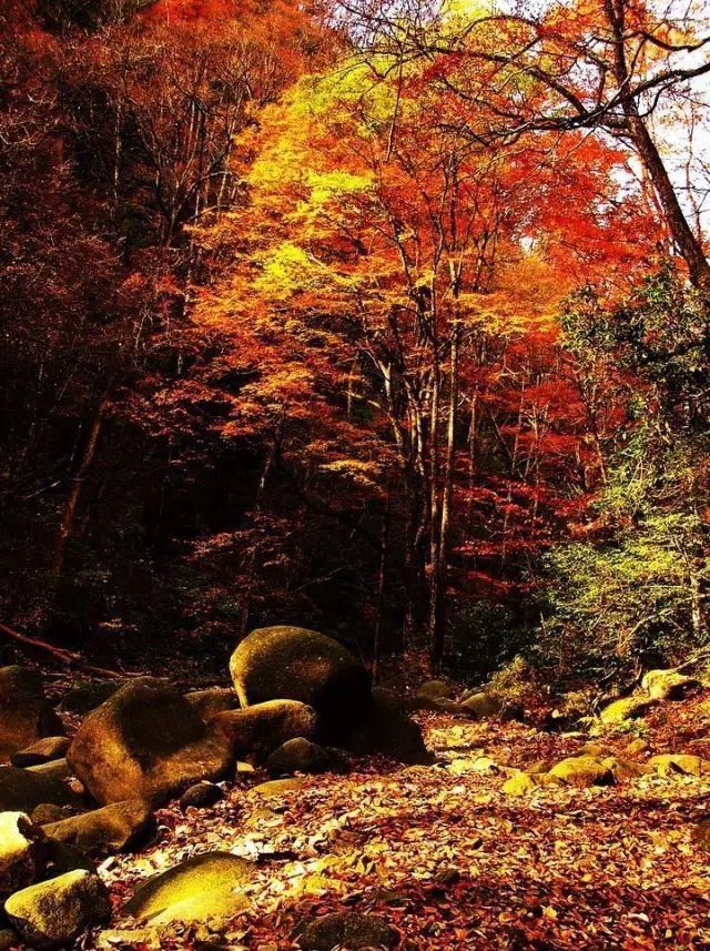
<svg viewBox="0 0 710 951">
<path fill-rule="evenodd" d="M 694 80 L 710 73 L 703 55 L 710 36 L 702 34 L 707 24 L 697 21 L 691 8 L 594 0 L 571 8 L 552 3 L 535 14 L 515 9 L 462 12 L 450 2 L 432 11 L 415 2 L 392 14 L 379 4 L 343 6 L 365 23 L 366 47 L 379 62 L 389 59 L 375 72 L 422 59 L 459 100 L 462 121 L 474 141 L 504 145 L 524 134 L 592 129 L 630 145 L 690 280 L 710 293 L 702 242 L 688 223 L 648 127 L 669 100 L 681 99 Z"/>
</svg>

